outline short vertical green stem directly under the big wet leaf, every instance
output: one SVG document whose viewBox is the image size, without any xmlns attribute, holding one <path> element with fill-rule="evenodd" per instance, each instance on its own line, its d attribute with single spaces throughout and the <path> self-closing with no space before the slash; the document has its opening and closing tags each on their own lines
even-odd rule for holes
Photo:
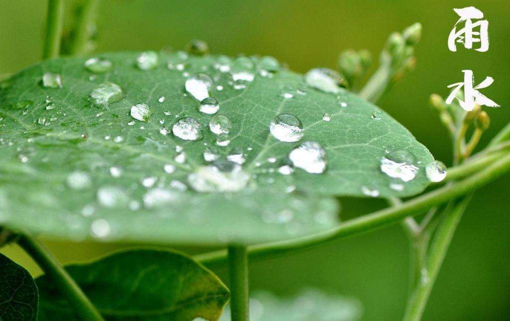
<svg viewBox="0 0 510 321">
<path fill-rule="evenodd" d="M 230 311 L 232 321 L 247 321 L 248 308 L 248 255 L 246 246 L 228 246 L 228 270 L 230 273 Z"/>
</svg>

